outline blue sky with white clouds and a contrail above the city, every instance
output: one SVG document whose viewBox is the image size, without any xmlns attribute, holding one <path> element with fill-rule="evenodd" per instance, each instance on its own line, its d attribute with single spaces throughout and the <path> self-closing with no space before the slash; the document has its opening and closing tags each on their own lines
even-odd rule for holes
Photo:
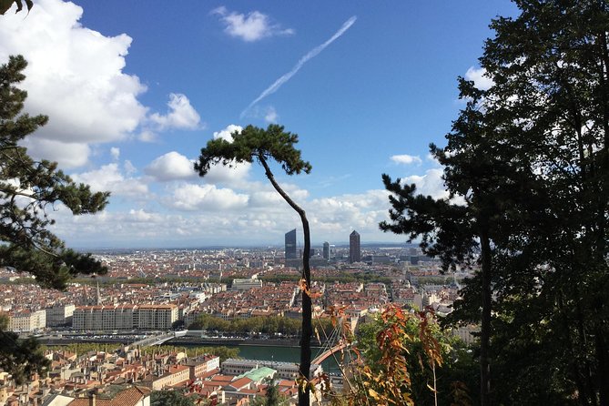
<svg viewBox="0 0 609 406">
<path fill-rule="evenodd" d="M 53 230 L 77 249 L 282 246 L 299 217 L 256 162 L 193 169 L 201 147 L 249 124 L 299 135 L 309 175 L 271 167 L 307 212 L 311 240 L 404 242 L 383 233 L 381 174 L 447 196 L 443 146 L 457 77 L 478 65 L 507 0 L 308 2 L 34 0 L 0 15 L 0 63 L 23 55 L 25 111 L 46 127 L 24 146 L 77 182 L 111 192 Z"/>
</svg>

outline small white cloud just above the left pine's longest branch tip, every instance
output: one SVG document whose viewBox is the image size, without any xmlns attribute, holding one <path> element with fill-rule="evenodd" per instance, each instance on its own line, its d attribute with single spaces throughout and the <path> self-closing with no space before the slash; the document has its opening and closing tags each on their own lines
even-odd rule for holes
<svg viewBox="0 0 609 406">
<path fill-rule="evenodd" d="M 94 191 L 109 191 L 113 195 L 141 198 L 148 194 L 147 185 L 137 178 L 125 178 L 118 164 L 104 165 L 99 169 L 72 175 L 76 182 L 88 184 Z"/>
</svg>

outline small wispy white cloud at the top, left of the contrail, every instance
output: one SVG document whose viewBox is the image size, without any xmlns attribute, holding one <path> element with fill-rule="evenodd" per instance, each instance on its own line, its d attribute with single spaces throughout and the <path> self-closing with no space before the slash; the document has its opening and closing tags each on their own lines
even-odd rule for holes
<svg viewBox="0 0 609 406">
<path fill-rule="evenodd" d="M 219 15 L 220 21 L 224 23 L 224 31 L 229 36 L 235 36 L 246 42 L 258 41 L 269 36 L 289 36 L 294 34 L 291 28 L 281 28 L 273 24 L 268 15 L 259 11 L 252 11 L 248 15 L 237 12 L 228 12 L 225 6 L 220 6 L 211 12 Z"/>
</svg>

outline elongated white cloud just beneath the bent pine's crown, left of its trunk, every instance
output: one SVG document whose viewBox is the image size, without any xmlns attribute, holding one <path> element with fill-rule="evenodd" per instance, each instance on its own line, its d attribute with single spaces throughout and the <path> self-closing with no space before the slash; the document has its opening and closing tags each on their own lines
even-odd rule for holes
<svg viewBox="0 0 609 406">
<path fill-rule="evenodd" d="M 215 185 L 181 185 L 174 189 L 166 204 L 179 210 L 238 210 L 248 204 L 248 196 Z"/>
</svg>

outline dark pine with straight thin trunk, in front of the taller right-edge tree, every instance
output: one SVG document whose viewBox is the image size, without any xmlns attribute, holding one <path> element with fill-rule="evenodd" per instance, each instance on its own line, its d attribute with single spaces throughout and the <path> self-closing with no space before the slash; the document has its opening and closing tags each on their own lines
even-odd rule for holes
<svg viewBox="0 0 609 406">
<path fill-rule="evenodd" d="M 448 198 L 434 199 L 416 193 L 415 185 L 383 175 L 391 192 L 391 221 L 381 229 L 421 238 L 421 248 L 442 259 L 442 269 L 476 267 L 476 293 L 472 319 L 481 322 L 481 403 L 490 404 L 492 282 L 497 278 L 497 261 L 510 252 L 513 224 L 509 215 L 531 183 L 528 173 L 513 164 L 513 150 L 502 142 L 511 127 L 501 127 L 482 108 L 483 92 L 471 82 L 460 81 L 461 96 L 468 99 L 448 134 L 448 145 L 431 145 L 431 153 L 444 167 Z M 480 309 L 480 310 L 478 310 Z"/>
</svg>

